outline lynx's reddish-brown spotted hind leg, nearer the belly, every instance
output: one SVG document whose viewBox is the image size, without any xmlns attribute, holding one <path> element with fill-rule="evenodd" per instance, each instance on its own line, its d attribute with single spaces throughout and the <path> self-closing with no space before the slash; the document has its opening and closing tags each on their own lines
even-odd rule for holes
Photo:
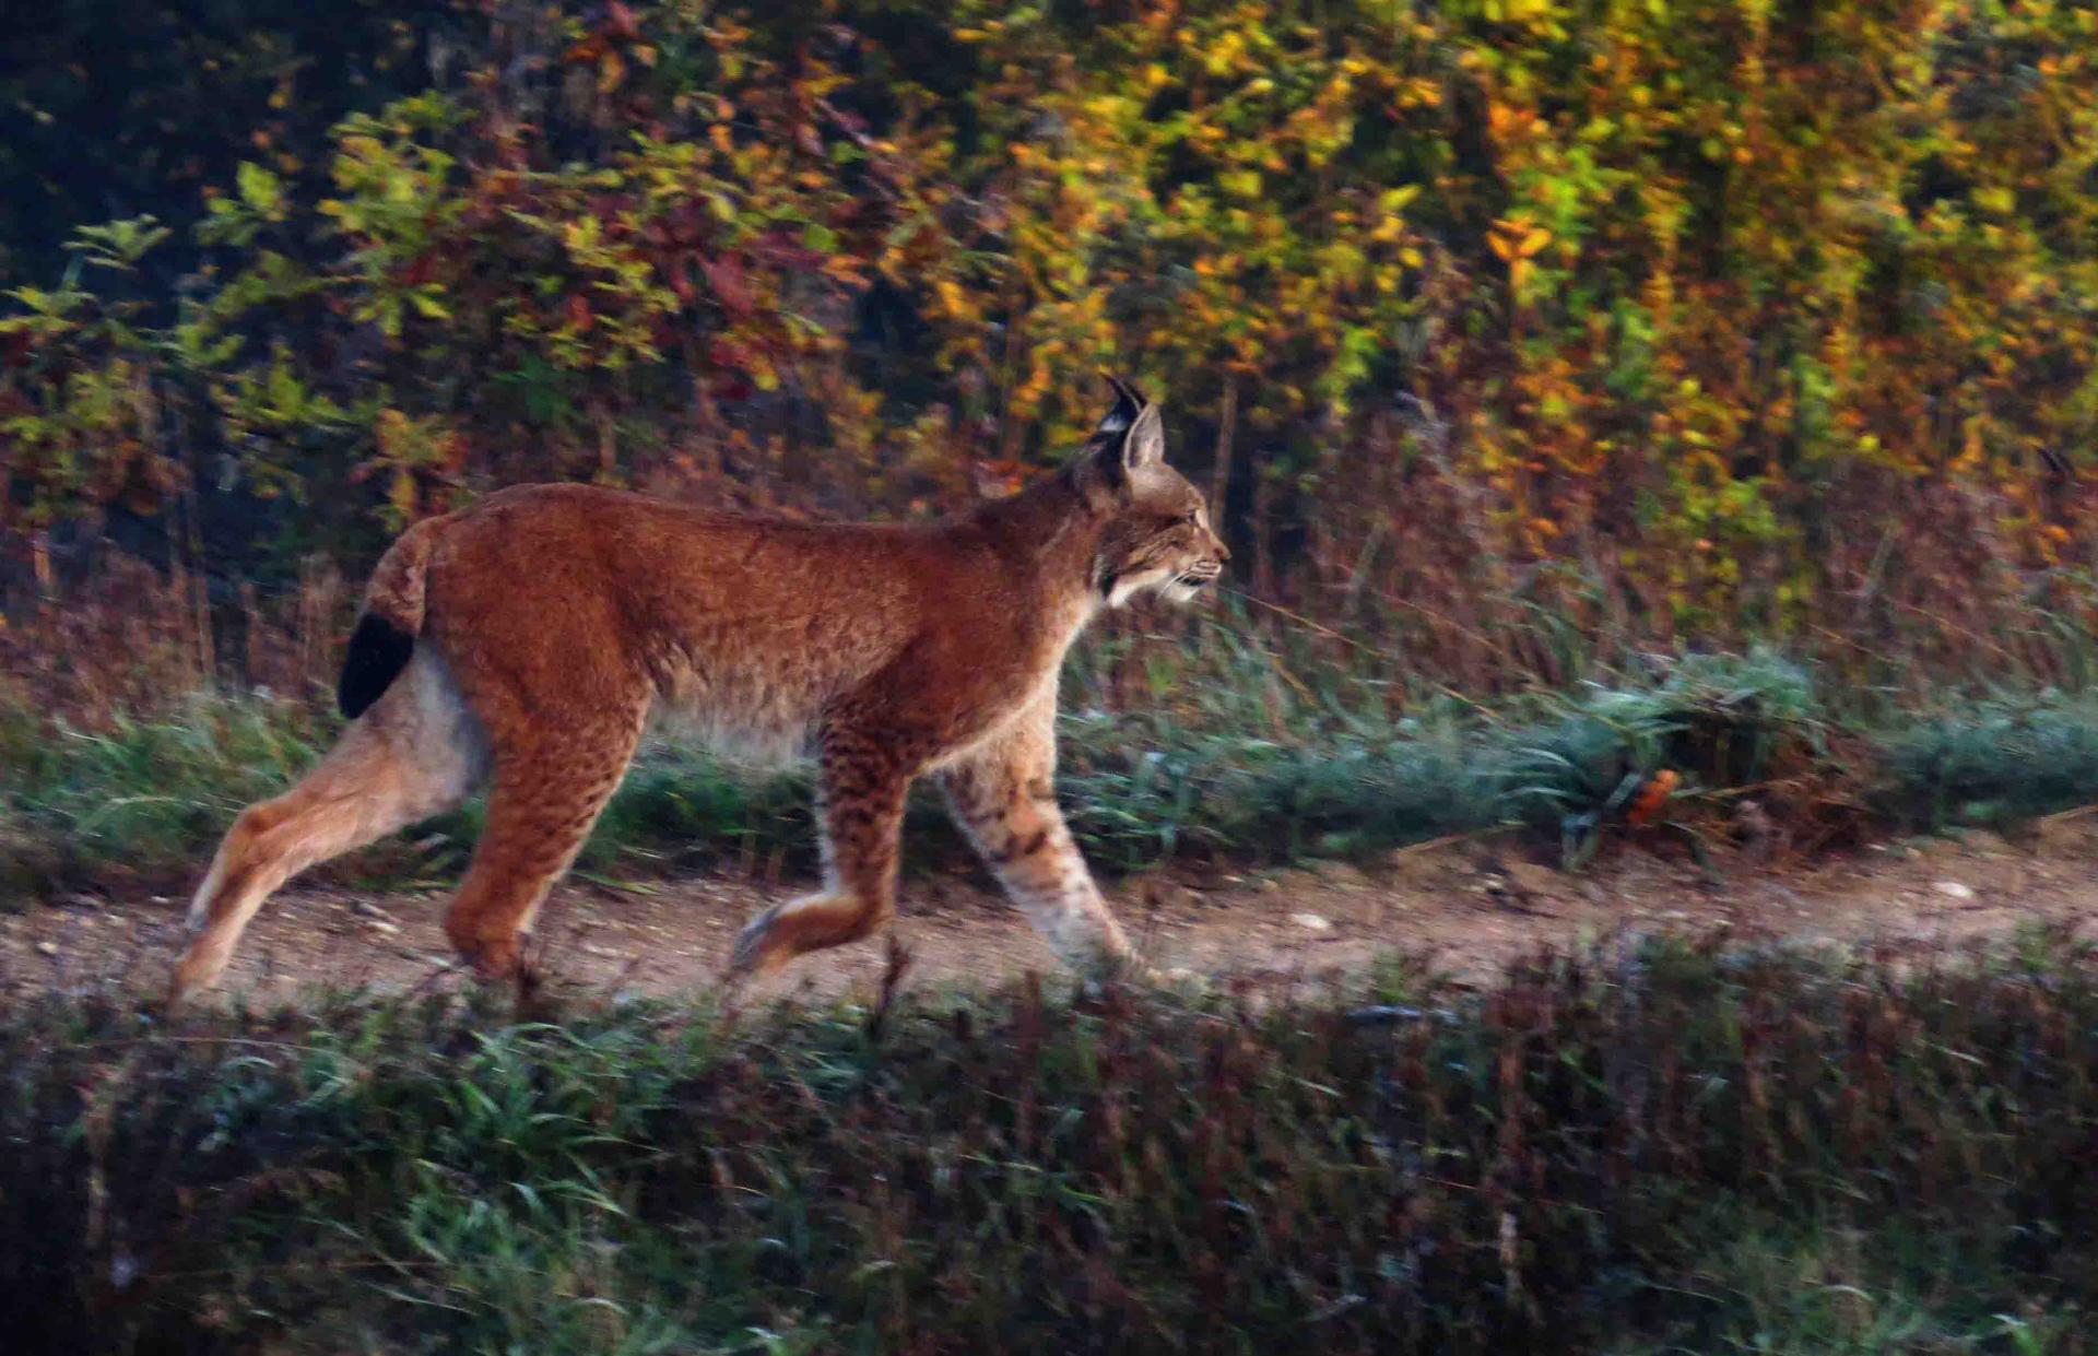
<svg viewBox="0 0 2098 1356">
<path fill-rule="evenodd" d="M 497 747 L 489 817 L 445 915 L 445 936 L 483 978 L 514 976 L 548 890 L 590 838 L 640 743 L 646 701 Z"/>
</svg>

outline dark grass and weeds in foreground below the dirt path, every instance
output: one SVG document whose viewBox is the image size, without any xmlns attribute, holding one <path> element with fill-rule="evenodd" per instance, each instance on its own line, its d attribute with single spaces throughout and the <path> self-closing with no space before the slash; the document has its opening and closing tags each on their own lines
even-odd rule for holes
<svg viewBox="0 0 2098 1356">
<path fill-rule="evenodd" d="M 29 1350 L 2088 1352 L 2098 963 L 0 1020 Z M 2020 1346 L 2027 1343 L 2027 1346 Z M 2031 1346 L 2039 1343 L 2039 1346 Z"/>
</svg>

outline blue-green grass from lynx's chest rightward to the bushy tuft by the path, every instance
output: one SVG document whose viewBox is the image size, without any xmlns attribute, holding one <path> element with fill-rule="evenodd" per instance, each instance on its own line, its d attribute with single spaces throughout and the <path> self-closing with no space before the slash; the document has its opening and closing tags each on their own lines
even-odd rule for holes
<svg viewBox="0 0 2098 1356">
<path fill-rule="evenodd" d="M 1064 781 L 1089 848 L 1133 869 L 1177 852 L 1351 856 L 1502 825 L 1559 833 L 1567 819 L 1601 823 L 1662 768 L 1729 787 L 1825 754 L 1825 716 L 1796 663 L 1758 651 L 1649 668 L 1645 682 L 1498 712 L 1439 697 L 1399 720 L 1334 693 L 1265 693 L 1259 712 L 1280 705 L 1280 733 L 1227 697 L 1198 703 L 1198 720 L 1080 712 L 1066 722 Z M 1248 674 L 1232 693 L 1263 686 Z"/>
</svg>

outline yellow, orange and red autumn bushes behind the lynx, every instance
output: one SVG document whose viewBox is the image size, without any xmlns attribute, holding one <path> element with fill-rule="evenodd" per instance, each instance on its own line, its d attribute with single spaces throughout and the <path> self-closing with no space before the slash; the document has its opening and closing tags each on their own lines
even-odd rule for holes
<svg viewBox="0 0 2098 1356">
<path fill-rule="evenodd" d="M 17 577 L 124 529 L 281 579 L 543 476 L 927 514 L 1116 367 L 1240 586 L 1462 684 L 1559 634 L 2048 663 L 2092 611 L 2088 2 L 397 27 L 422 92 L 10 279 Z"/>
</svg>

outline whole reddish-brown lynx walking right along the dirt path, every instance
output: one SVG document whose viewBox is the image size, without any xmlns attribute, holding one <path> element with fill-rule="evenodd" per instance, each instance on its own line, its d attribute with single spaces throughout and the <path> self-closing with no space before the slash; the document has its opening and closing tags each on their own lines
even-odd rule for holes
<svg viewBox="0 0 2098 1356">
<path fill-rule="evenodd" d="M 445 919 L 485 978 L 522 938 L 657 709 L 718 743 L 810 754 L 822 888 L 736 938 L 730 976 L 896 913 L 904 793 L 936 777 L 1072 968 L 1135 966 L 1055 802 L 1057 668 L 1104 609 L 1185 602 L 1229 558 L 1164 464 L 1158 407 L 1114 407 L 1059 472 L 932 525 L 810 525 L 585 485 L 522 485 L 405 531 L 365 590 L 313 772 L 235 819 L 189 911 L 172 1001 L 210 987 L 294 873 L 487 785 Z"/>
</svg>

